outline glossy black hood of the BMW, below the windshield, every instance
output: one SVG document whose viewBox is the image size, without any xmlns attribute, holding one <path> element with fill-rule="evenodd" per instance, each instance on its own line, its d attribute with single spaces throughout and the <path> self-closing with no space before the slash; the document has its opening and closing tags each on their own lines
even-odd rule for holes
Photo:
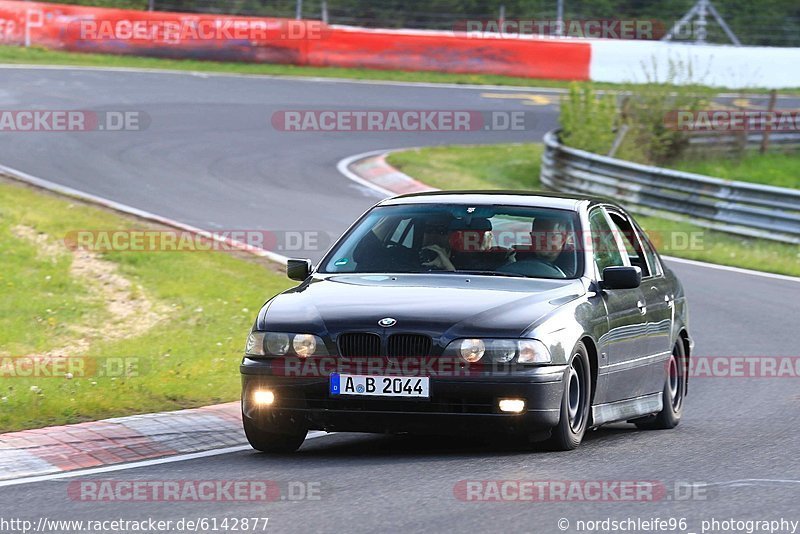
<svg viewBox="0 0 800 534">
<path fill-rule="evenodd" d="M 433 337 L 519 337 L 585 293 L 581 280 L 457 274 L 329 275 L 288 290 L 259 314 L 258 329 L 330 335 L 343 331 Z M 378 325 L 391 317 L 390 329 Z"/>
</svg>

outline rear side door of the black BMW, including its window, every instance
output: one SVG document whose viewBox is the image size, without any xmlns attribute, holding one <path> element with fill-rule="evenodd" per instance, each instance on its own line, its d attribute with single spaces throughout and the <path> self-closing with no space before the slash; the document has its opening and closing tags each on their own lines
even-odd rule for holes
<svg viewBox="0 0 800 534">
<path fill-rule="evenodd" d="M 672 350 L 672 322 L 674 295 L 669 294 L 670 285 L 664 270 L 653 253 L 646 236 L 621 210 L 608 211 L 615 230 L 622 236 L 631 265 L 642 269 L 640 287 L 645 301 L 645 332 L 640 351 L 642 357 L 650 358 L 651 373 L 646 393 L 661 391 L 669 353 Z"/>
</svg>

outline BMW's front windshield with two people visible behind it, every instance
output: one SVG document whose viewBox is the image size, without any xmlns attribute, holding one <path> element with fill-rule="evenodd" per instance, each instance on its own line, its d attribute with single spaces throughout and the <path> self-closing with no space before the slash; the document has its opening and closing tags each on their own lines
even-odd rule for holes
<svg viewBox="0 0 800 534">
<path fill-rule="evenodd" d="M 576 226 L 577 213 L 547 208 L 381 206 L 337 243 L 320 272 L 575 278 Z"/>
</svg>

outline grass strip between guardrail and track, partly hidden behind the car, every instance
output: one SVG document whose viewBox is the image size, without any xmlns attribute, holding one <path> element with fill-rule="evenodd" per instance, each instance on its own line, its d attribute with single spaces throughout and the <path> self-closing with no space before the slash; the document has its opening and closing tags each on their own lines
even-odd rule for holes
<svg viewBox="0 0 800 534">
<path fill-rule="evenodd" d="M 506 144 L 396 152 L 388 162 L 440 189 L 541 189 L 542 146 Z M 800 247 L 742 238 L 688 222 L 637 216 L 662 254 L 800 276 Z M 693 244 L 690 244 L 693 240 Z"/>
</svg>

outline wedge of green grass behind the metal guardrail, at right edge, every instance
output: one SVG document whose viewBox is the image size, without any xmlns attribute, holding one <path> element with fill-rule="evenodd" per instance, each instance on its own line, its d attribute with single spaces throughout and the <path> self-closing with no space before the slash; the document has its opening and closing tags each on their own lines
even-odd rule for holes
<svg viewBox="0 0 800 534">
<path fill-rule="evenodd" d="M 747 154 L 680 161 L 675 168 L 727 180 L 800 189 L 800 154 Z"/>
</svg>

